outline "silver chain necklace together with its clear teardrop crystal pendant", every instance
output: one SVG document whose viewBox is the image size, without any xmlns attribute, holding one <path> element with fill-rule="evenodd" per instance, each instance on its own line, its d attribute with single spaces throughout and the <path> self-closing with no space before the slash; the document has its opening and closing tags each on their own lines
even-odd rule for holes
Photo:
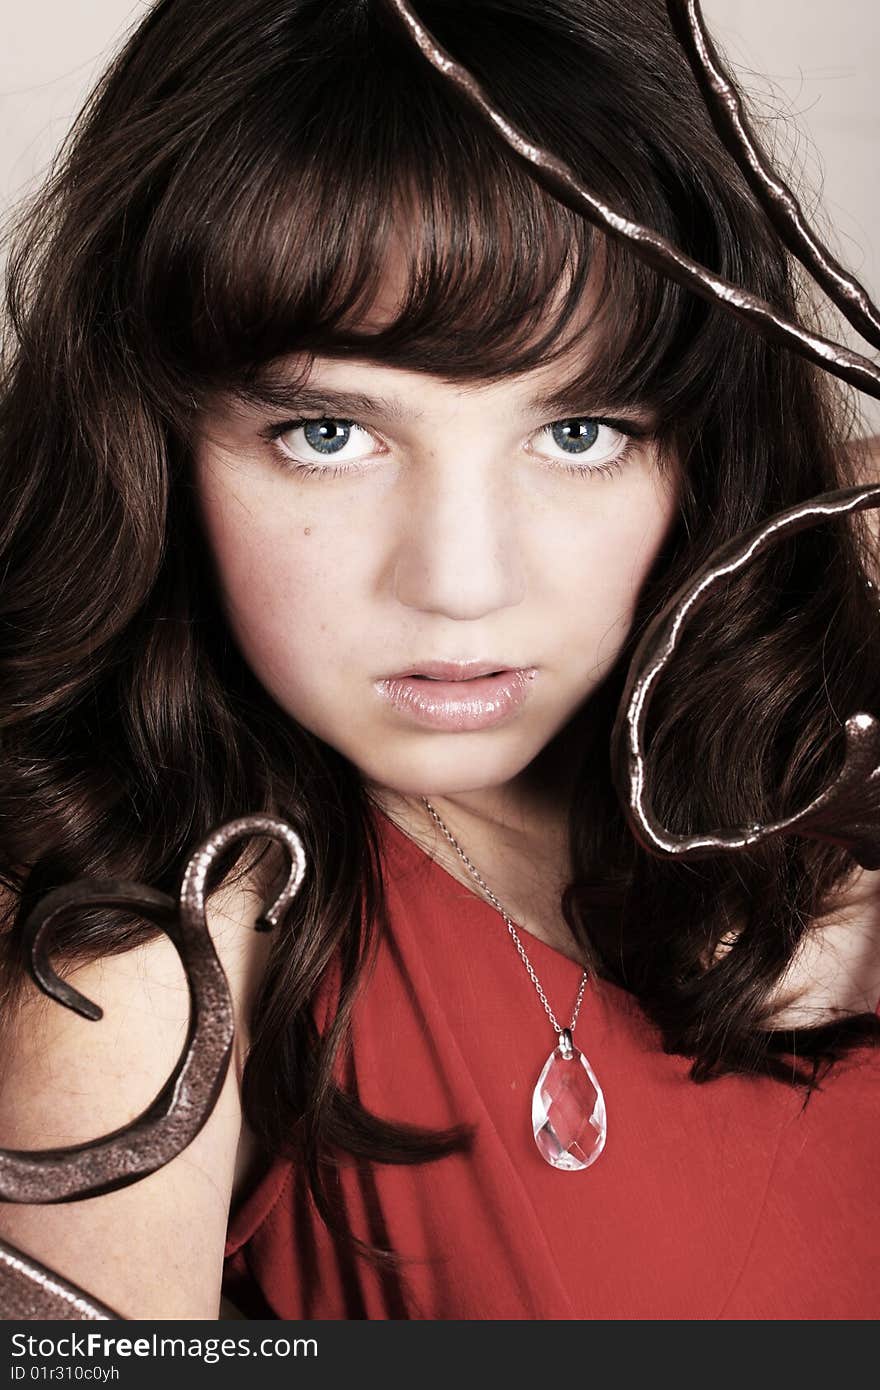
<svg viewBox="0 0 880 1390">
<path fill-rule="evenodd" d="M 589 1168 L 605 1148 L 608 1120 L 602 1087 L 589 1062 L 571 1041 L 584 990 L 587 988 L 588 972 L 584 970 L 581 977 L 571 1022 L 567 1029 L 563 1029 L 556 1022 L 556 1015 L 548 1002 L 531 960 L 525 955 L 525 948 L 520 941 L 510 913 L 495 897 L 477 866 L 467 858 L 462 845 L 449 830 L 449 826 L 446 826 L 428 798 L 423 796 L 421 801 L 467 872 L 480 884 L 492 906 L 502 915 L 523 965 L 528 970 L 531 983 L 538 991 L 544 1011 L 559 1037 L 559 1044 L 546 1059 L 532 1094 L 531 1122 L 538 1152 L 548 1163 L 562 1172 L 573 1173 Z"/>
</svg>

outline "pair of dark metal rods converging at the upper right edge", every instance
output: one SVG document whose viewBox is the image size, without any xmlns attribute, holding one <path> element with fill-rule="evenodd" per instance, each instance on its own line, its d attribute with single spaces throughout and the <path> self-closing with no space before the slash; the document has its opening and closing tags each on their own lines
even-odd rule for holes
<svg viewBox="0 0 880 1390">
<path fill-rule="evenodd" d="M 763 336 L 791 348 L 792 352 L 816 363 L 834 377 L 840 377 L 859 391 L 880 399 L 880 367 L 870 357 L 851 352 L 842 343 L 820 334 L 809 332 L 802 324 L 792 322 L 780 314 L 773 304 L 685 256 L 659 232 L 614 211 L 580 182 L 564 160 L 560 160 L 551 150 L 534 145 L 489 101 L 482 85 L 438 43 L 421 19 L 413 14 L 407 0 L 385 0 L 385 4 L 395 13 L 428 63 L 487 117 L 510 149 L 532 167 L 538 181 L 566 207 L 580 213 L 606 235 L 626 242 L 634 256 L 676 284 L 719 304 L 737 318 L 751 324 Z M 777 229 L 784 229 L 787 245 L 802 264 L 812 271 L 819 267 L 822 288 L 837 307 L 847 314 L 872 346 L 880 346 L 880 311 L 872 303 L 865 288 L 837 265 L 819 238 L 808 229 L 804 214 L 791 192 L 773 175 L 763 157 L 758 156 L 758 147 L 742 115 L 738 97 L 734 101 L 734 83 L 724 72 L 708 38 L 699 4 L 696 0 L 667 0 L 667 10 L 676 38 L 685 49 L 703 96 L 708 97 L 716 128 L 748 179 L 755 197 L 774 221 Z"/>
</svg>

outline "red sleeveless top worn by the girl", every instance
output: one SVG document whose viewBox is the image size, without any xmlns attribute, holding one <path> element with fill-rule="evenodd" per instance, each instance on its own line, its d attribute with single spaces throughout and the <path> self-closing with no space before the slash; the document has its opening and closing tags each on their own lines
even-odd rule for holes
<svg viewBox="0 0 880 1390">
<path fill-rule="evenodd" d="M 382 1270 L 334 1238 L 303 1173 L 274 1163 L 234 1212 L 224 1289 L 284 1319 L 873 1319 L 880 1316 L 880 1049 L 804 1093 L 667 1056 L 626 991 L 587 984 L 576 1045 L 605 1093 L 608 1143 L 580 1172 L 544 1161 L 531 1094 L 556 1034 L 496 910 L 380 815 L 388 930 L 339 1079 L 374 1113 L 443 1129 L 470 1154 L 345 1155 L 352 1230 L 405 1257 Z M 525 935 L 556 1017 L 580 966 Z M 323 1027 L 329 991 L 316 1004 Z"/>
</svg>

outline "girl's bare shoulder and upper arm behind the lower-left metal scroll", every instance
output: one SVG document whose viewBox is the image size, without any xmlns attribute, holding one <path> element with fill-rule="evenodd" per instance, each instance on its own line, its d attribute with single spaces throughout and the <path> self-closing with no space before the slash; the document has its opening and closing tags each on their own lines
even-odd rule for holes
<svg viewBox="0 0 880 1390">
<path fill-rule="evenodd" d="M 209 899 L 236 1047 L 220 1099 L 193 1143 L 121 1191 L 53 1207 L 0 1205 L 0 1234 L 128 1318 L 217 1316 L 242 1133 L 241 1069 L 270 945 L 253 930 L 261 903 L 256 881 Z M 104 1016 L 82 1019 L 26 984 L 0 1038 L 7 1148 L 67 1147 L 127 1126 L 161 1088 L 185 1045 L 189 991 L 165 937 L 65 974 Z"/>
</svg>

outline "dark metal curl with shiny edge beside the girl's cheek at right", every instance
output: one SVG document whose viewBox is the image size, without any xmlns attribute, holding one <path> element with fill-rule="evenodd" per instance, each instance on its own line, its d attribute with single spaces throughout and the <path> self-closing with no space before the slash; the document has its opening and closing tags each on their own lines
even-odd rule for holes
<svg viewBox="0 0 880 1390">
<path fill-rule="evenodd" d="M 688 619 L 706 600 L 712 587 L 735 574 L 783 537 L 817 525 L 829 517 L 880 507 L 880 484 L 840 488 L 809 502 L 799 502 L 769 521 L 734 537 L 688 578 L 644 632 L 630 663 L 627 684 L 612 731 L 612 767 L 617 795 L 638 842 L 656 855 L 701 859 L 742 849 L 772 835 L 792 834 L 824 840 L 848 849 L 863 869 L 880 869 L 880 821 L 865 817 L 865 788 L 880 774 L 880 721 L 873 714 L 852 714 L 845 726 L 844 763 L 830 787 L 804 810 L 772 824 L 753 823 L 705 834 L 673 835 L 652 808 L 644 755 L 644 733 L 653 689 L 669 666 Z"/>
</svg>

